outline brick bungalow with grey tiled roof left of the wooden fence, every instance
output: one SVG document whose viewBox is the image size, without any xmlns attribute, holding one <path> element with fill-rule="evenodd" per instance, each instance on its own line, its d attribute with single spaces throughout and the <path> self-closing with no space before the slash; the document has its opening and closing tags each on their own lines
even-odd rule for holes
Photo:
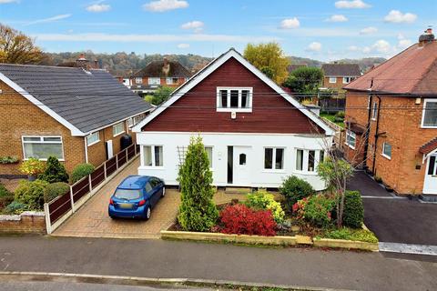
<svg viewBox="0 0 437 291">
<path fill-rule="evenodd" d="M 0 64 L 0 156 L 99 166 L 151 108 L 105 70 Z M 0 164 L 0 176 L 18 166 Z"/>
</svg>

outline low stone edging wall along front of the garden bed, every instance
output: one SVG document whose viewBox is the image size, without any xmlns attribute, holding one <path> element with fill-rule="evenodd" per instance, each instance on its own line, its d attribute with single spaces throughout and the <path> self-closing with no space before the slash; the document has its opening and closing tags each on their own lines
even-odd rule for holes
<svg viewBox="0 0 437 291">
<path fill-rule="evenodd" d="M 316 246 L 345 249 L 359 249 L 378 252 L 378 243 L 366 243 L 360 241 L 311 238 L 310 236 L 248 236 L 248 235 L 227 235 L 219 233 L 200 233 L 188 231 L 161 230 L 162 239 L 194 240 L 194 241 L 216 241 L 235 244 L 268 245 L 268 246 Z"/>
</svg>

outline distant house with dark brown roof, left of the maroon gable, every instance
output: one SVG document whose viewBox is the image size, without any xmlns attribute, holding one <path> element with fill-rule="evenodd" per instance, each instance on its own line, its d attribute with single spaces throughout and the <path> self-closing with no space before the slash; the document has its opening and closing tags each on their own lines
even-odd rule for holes
<svg viewBox="0 0 437 291">
<path fill-rule="evenodd" d="M 161 61 L 154 61 L 146 65 L 130 77 L 130 88 L 139 94 L 155 92 L 159 86 L 178 87 L 184 84 L 191 73 L 186 67 L 178 62 L 169 61 L 164 58 Z M 123 80 L 126 85 L 127 80 Z"/>
</svg>

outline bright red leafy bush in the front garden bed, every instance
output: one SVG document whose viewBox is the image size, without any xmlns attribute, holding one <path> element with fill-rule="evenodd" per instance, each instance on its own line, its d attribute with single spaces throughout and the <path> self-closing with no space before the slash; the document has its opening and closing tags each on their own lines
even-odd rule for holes
<svg viewBox="0 0 437 291">
<path fill-rule="evenodd" d="M 224 234 L 275 236 L 276 222 L 270 210 L 254 210 L 243 204 L 226 206 L 220 212 Z"/>
</svg>

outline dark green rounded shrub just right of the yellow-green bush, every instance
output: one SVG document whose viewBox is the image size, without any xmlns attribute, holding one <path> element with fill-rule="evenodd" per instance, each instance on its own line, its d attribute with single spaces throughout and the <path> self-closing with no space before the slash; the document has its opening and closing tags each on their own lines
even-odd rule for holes
<svg viewBox="0 0 437 291">
<path fill-rule="evenodd" d="M 285 202 L 289 209 L 298 202 L 298 200 L 316 193 L 314 188 L 310 186 L 310 183 L 297 176 L 287 177 L 282 183 L 282 186 L 279 187 L 279 191 L 285 196 Z"/>
</svg>

